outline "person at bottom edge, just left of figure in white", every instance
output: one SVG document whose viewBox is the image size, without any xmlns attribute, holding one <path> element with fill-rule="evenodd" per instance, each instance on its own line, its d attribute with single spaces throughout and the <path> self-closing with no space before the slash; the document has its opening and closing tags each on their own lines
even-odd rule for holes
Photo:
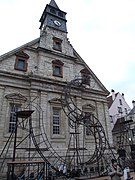
<svg viewBox="0 0 135 180">
<path fill-rule="evenodd" d="M 112 165 L 109 168 L 108 175 L 111 177 L 111 180 L 121 180 L 121 176 L 123 175 L 122 169 L 115 159 L 112 159 L 111 162 Z"/>
</svg>

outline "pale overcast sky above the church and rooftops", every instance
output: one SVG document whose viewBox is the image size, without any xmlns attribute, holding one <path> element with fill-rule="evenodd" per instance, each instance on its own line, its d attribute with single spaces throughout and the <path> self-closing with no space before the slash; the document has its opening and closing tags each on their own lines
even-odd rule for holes
<svg viewBox="0 0 135 180">
<path fill-rule="evenodd" d="M 68 38 L 111 91 L 135 100 L 135 0 L 55 0 L 67 12 Z M 0 0 L 0 55 L 39 37 L 50 0 Z"/>
</svg>

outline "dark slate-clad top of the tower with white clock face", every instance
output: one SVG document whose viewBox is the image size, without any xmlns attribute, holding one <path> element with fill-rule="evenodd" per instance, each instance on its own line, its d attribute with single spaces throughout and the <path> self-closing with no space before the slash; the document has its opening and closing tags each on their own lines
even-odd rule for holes
<svg viewBox="0 0 135 180">
<path fill-rule="evenodd" d="M 46 26 L 67 32 L 66 13 L 61 11 L 54 0 L 51 0 L 40 18 L 40 30 L 43 31 Z"/>
</svg>

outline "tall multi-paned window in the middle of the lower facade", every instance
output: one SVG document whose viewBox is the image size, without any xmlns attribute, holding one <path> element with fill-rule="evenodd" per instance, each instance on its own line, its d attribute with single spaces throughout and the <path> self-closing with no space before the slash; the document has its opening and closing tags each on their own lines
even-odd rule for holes
<svg viewBox="0 0 135 180">
<path fill-rule="evenodd" d="M 60 134 L 60 109 L 53 108 L 53 134 Z"/>
</svg>

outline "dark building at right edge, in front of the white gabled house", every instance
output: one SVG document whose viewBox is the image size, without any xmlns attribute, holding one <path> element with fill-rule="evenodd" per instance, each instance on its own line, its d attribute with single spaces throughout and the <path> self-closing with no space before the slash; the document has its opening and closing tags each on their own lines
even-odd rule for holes
<svg viewBox="0 0 135 180">
<path fill-rule="evenodd" d="M 135 103 L 128 114 L 118 118 L 113 130 L 113 145 L 117 149 L 121 166 L 135 168 Z"/>
</svg>

